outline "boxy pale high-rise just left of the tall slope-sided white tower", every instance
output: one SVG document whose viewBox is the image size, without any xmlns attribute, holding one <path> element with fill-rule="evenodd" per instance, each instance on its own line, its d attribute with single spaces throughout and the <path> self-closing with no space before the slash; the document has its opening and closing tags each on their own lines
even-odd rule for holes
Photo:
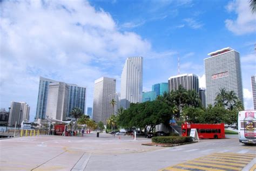
<svg viewBox="0 0 256 171">
<path fill-rule="evenodd" d="M 92 120 L 106 125 L 106 120 L 114 113 L 112 99 L 116 99 L 116 79 L 102 77 L 95 80 Z"/>
</svg>

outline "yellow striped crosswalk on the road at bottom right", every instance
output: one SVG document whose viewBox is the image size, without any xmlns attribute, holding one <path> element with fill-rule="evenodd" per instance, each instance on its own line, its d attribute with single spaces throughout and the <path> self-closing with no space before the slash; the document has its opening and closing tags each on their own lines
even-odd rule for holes
<svg viewBox="0 0 256 171">
<path fill-rule="evenodd" d="M 195 150 L 193 149 L 193 151 Z M 211 155 L 206 155 L 194 160 L 179 163 L 178 165 L 166 167 L 161 170 L 242 170 L 242 168 L 244 168 L 250 161 L 252 161 L 252 159 L 254 159 L 254 157 L 256 157 L 254 154 L 244 153 L 245 152 L 213 153 Z M 254 165 L 250 171 L 253 171 L 254 169 L 256 169 L 256 165 Z"/>
</svg>

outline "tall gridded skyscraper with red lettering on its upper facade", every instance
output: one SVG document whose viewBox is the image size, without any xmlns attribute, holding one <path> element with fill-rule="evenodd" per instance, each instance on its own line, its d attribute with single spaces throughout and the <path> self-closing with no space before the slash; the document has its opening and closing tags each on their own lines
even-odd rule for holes
<svg viewBox="0 0 256 171">
<path fill-rule="evenodd" d="M 204 59 L 206 107 L 215 104 L 215 98 L 221 88 L 225 88 L 226 91 L 234 91 L 238 99 L 244 104 L 239 53 L 226 47 L 208 53 L 208 56 L 210 57 Z"/>
</svg>

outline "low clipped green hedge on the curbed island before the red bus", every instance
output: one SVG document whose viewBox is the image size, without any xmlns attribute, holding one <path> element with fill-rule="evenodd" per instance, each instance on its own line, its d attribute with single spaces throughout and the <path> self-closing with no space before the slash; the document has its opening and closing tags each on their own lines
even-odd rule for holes
<svg viewBox="0 0 256 171">
<path fill-rule="evenodd" d="M 192 142 L 193 139 L 191 136 L 154 136 L 152 138 L 152 142 L 155 143 L 184 143 L 184 142 Z"/>
</svg>

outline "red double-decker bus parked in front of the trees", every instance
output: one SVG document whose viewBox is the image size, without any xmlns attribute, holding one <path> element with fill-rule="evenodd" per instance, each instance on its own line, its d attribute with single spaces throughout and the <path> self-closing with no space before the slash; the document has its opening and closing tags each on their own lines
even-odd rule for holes
<svg viewBox="0 0 256 171">
<path fill-rule="evenodd" d="M 197 129 L 199 139 L 225 138 L 224 124 L 182 124 L 182 136 L 190 136 L 191 129 Z"/>
</svg>

